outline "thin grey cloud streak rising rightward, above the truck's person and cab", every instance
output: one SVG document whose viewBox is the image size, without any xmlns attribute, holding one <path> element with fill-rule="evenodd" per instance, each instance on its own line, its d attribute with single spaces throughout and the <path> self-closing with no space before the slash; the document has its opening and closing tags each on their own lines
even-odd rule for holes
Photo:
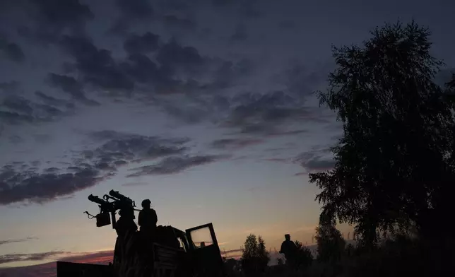
<svg viewBox="0 0 455 277">
<path fill-rule="evenodd" d="M 198 165 L 205 165 L 208 163 L 214 163 L 218 160 L 226 158 L 222 155 L 184 155 L 177 157 L 169 157 L 161 160 L 155 165 L 146 165 L 142 167 L 134 168 L 135 173 L 127 175 L 126 177 L 138 177 L 143 175 L 171 175 L 183 172 L 191 167 Z"/>
</svg>

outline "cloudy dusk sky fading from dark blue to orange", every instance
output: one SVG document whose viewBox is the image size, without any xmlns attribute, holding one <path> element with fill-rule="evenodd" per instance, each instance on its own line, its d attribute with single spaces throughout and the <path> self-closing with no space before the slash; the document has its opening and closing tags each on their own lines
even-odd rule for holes
<svg viewBox="0 0 455 277">
<path fill-rule="evenodd" d="M 213 223 L 313 244 L 308 173 L 342 135 L 317 90 L 331 46 L 396 20 L 432 30 L 455 66 L 453 1 L 0 0 L 0 276 L 106 262 L 116 233 L 87 197 L 114 189 L 158 224 Z M 139 207 L 138 207 L 139 208 Z M 339 227 L 347 236 L 351 228 Z"/>
</svg>

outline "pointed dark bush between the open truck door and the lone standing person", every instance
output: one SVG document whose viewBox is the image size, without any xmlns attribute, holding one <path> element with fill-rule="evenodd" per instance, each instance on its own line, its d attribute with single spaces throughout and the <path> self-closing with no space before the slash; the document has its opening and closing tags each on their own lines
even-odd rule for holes
<svg viewBox="0 0 455 277">
<path fill-rule="evenodd" d="M 254 234 L 249 235 L 244 242 L 242 252 L 240 262 L 247 275 L 265 271 L 268 261 L 270 261 L 270 254 L 266 250 L 266 243 L 261 236 L 256 238 Z"/>
</svg>

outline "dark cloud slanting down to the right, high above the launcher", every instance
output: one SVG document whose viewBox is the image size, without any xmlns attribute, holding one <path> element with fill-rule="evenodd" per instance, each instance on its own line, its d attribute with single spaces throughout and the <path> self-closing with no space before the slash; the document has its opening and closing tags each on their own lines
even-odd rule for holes
<svg viewBox="0 0 455 277">
<path fill-rule="evenodd" d="M 129 94 L 134 83 L 112 58 L 107 49 L 98 49 L 88 37 L 64 36 L 61 47 L 76 59 L 76 69 L 83 81 L 103 90 Z"/>
</svg>

